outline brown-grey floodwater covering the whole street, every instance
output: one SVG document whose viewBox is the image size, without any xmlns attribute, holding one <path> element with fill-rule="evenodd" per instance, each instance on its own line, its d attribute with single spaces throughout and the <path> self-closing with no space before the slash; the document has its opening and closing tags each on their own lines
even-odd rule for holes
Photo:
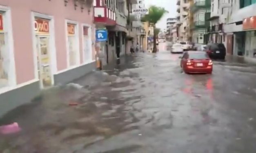
<svg viewBox="0 0 256 153">
<path fill-rule="evenodd" d="M 179 54 L 121 58 L 0 119 L 4 153 L 255 153 L 256 66 L 227 57 L 184 74 Z M 78 103 L 70 106 L 69 103 Z"/>
</svg>

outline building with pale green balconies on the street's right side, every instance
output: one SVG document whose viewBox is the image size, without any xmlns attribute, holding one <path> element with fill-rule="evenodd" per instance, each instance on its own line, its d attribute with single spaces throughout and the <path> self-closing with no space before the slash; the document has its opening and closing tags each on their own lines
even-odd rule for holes
<svg viewBox="0 0 256 153">
<path fill-rule="evenodd" d="M 211 0 L 194 0 L 190 6 L 193 13 L 193 24 L 191 26 L 192 42 L 195 45 L 205 44 L 207 28 L 210 26 Z"/>
</svg>

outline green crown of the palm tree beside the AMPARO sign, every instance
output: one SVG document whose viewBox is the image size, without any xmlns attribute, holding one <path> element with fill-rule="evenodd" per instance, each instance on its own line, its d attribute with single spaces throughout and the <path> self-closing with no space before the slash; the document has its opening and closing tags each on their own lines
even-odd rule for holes
<svg viewBox="0 0 256 153">
<path fill-rule="evenodd" d="M 165 8 L 163 7 L 156 7 L 155 5 L 152 5 L 151 7 L 149 7 L 149 14 L 144 15 L 141 18 L 142 22 L 149 22 L 152 24 L 156 24 L 165 13 L 168 13 L 167 10 L 165 10 Z"/>
</svg>

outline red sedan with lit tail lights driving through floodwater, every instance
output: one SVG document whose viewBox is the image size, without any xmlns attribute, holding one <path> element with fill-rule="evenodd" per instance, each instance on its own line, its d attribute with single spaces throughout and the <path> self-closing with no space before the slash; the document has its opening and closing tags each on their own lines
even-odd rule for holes
<svg viewBox="0 0 256 153">
<path fill-rule="evenodd" d="M 213 63 L 206 52 L 187 51 L 180 59 L 180 66 L 185 73 L 211 74 L 212 72 Z"/>
</svg>

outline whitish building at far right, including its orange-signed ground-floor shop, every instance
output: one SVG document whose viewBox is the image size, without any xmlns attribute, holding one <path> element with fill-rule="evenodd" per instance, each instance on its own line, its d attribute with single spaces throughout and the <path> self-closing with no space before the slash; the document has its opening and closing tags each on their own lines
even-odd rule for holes
<svg viewBox="0 0 256 153">
<path fill-rule="evenodd" d="M 227 52 L 243 56 L 249 61 L 256 58 L 256 1 L 231 0 L 227 3 Z"/>
</svg>

